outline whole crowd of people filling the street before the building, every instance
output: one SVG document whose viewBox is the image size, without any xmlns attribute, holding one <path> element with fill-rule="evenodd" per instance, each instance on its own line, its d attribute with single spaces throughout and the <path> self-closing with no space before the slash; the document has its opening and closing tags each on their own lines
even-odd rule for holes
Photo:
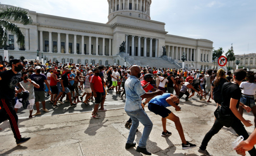
<svg viewBox="0 0 256 156">
<path fill-rule="evenodd" d="M 199 97 L 200 100 L 207 100 L 207 102 L 214 101 L 217 107 L 214 112 L 215 122 L 198 150 L 207 156 L 210 155 L 206 150 L 208 142 L 223 126 L 232 127 L 245 139 L 249 137 L 243 125 L 248 127 L 252 124 L 242 117 L 244 109 L 247 112 L 252 111 L 256 127 L 255 73 L 244 69 L 235 70 L 232 74 L 223 69 L 205 71 L 137 65 L 129 67 L 62 64 L 58 61 L 51 62 L 51 60 L 42 63 L 38 60 L 28 62 L 13 59 L 0 63 L 0 87 L 6 88 L 0 90 L 0 123 L 9 119 L 17 145 L 29 139 L 21 137 L 16 114 L 23 106 L 21 101 L 24 101 L 19 99 L 17 94 L 24 91 L 29 92 L 27 106 L 29 118 L 41 115 L 40 102 L 43 111 L 49 112 L 45 107 L 46 97 L 50 97 L 49 103 L 53 108 L 59 108 L 59 105 L 65 102 L 69 102 L 70 107 L 75 107 L 79 102 L 88 105 L 94 100 L 92 117 L 99 118 L 98 111 L 107 111 L 104 108 L 106 95 L 109 91 L 116 92 L 120 99 L 125 98 L 124 110 L 130 116 L 125 123 L 125 127 L 130 128 L 125 148 L 135 147 L 134 138 L 139 122 L 141 122 L 144 130 L 136 151 L 146 155 L 151 155 L 146 150 L 146 141 L 153 127 L 153 123 L 144 112 L 144 106 L 147 103 L 149 111 L 162 117 L 163 132 L 161 135 L 171 135 L 171 132 L 166 129 L 166 119 L 169 119 L 176 125 L 181 137 L 182 149 L 189 149 L 196 145 L 186 141 L 179 117 L 166 107 L 173 106 L 176 111 L 181 111 L 178 105 L 184 94 L 186 95 L 185 101 L 189 101 L 193 96 Z M 65 97 L 66 100 L 63 100 Z M 145 102 L 142 102 L 144 98 Z M 32 114 L 34 104 L 37 112 Z M 226 119 L 226 116 L 229 118 Z M 242 148 L 237 149 L 237 153 L 241 155 L 245 153 L 244 151 Z M 250 149 L 249 153 L 256 155 L 255 148 Z"/>
</svg>

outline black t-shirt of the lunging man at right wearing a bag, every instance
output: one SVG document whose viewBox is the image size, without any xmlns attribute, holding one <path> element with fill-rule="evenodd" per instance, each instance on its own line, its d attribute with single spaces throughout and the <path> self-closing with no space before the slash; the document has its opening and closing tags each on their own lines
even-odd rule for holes
<svg viewBox="0 0 256 156">
<path fill-rule="evenodd" d="M 237 104 L 236 108 L 238 108 L 240 103 L 240 97 L 241 97 L 241 89 L 238 84 L 234 84 L 232 82 L 226 82 L 222 86 L 222 110 L 225 115 L 233 115 L 235 116 L 232 111 L 230 110 L 230 99 L 236 99 Z"/>
</svg>

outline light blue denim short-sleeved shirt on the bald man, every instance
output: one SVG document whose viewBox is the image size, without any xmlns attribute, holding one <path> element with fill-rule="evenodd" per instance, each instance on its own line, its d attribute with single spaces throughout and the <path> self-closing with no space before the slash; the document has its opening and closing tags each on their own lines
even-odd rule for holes
<svg viewBox="0 0 256 156">
<path fill-rule="evenodd" d="M 139 79 L 131 75 L 125 81 L 124 88 L 126 92 L 124 110 L 127 112 L 133 112 L 142 109 L 142 98 L 140 96 L 146 92 L 143 90 Z"/>
</svg>

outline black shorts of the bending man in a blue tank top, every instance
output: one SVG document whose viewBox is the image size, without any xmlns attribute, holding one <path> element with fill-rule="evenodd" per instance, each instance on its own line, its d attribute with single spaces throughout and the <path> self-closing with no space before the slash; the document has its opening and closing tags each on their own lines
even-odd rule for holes
<svg viewBox="0 0 256 156">
<path fill-rule="evenodd" d="M 171 111 L 168 110 L 167 108 L 160 106 L 158 104 L 155 104 L 155 103 L 148 103 L 147 108 L 149 111 L 155 113 L 156 115 L 160 115 L 163 118 L 168 117 L 169 114 L 171 113 Z"/>
</svg>

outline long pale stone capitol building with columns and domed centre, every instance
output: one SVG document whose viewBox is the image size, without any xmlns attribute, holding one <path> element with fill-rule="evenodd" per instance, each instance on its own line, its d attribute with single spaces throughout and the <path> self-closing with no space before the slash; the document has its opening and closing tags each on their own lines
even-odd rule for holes
<svg viewBox="0 0 256 156">
<path fill-rule="evenodd" d="M 62 63 L 181 68 L 184 54 L 185 68 L 211 68 L 213 42 L 168 34 L 165 23 L 151 20 L 151 3 L 152 0 L 108 0 L 106 24 L 25 8 L 33 23 L 26 26 L 16 23 L 25 36 L 25 46 L 18 45 L 17 37 L 8 33 L 12 42 L 8 60 L 34 60 L 38 50 L 39 62 L 51 59 Z M 15 6 L 2 4 L 2 7 Z M 121 44 L 124 47 L 120 52 Z M 166 56 L 162 56 L 164 49 Z M 3 58 L 4 50 L 0 49 L 0 59 Z"/>
</svg>

